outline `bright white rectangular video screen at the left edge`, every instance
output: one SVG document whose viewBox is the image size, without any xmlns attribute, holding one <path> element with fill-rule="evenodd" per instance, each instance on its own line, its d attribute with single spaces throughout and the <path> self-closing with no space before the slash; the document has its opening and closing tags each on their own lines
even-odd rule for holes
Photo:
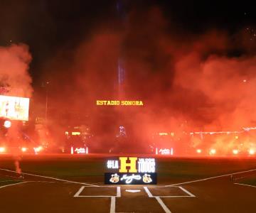
<svg viewBox="0 0 256 213">
<path fill-rule="evenodd" d="M 0 95 L 0 118 L 28 121 L 29 98 Z"/>
</svg>

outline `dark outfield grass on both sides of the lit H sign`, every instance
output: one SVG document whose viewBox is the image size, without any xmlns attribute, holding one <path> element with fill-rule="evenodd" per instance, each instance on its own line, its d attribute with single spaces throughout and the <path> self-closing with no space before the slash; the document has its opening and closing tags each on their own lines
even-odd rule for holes
<svg viewBox="0 0 256 213">
<path fill-rule="evenodd" d="M 111 158 L 111 157 L 109 157 Z M 106 168 L 106 157 L 79 156 L 24 156 L 21 170 L 26 173 L 46 175 L 56 178 L 102 178 Z M 234 173 L 256 168 L 255 158 L 158 158 L 157 173 L 159 180 L 193 180 L 215 175 Z M 0 156 L 0 168 L 15 170 L 13 158 Z"/>
</svg>

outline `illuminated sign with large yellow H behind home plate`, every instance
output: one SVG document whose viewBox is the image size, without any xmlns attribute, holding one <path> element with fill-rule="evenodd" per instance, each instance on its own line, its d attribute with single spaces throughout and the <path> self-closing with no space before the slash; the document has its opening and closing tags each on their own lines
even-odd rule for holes
<svg viewBox="0 0 256 213">
<path fill-rule="evenodd" d="M 105 184 L 156 184 L 156 162 L 154 158 L 119 157 L 107 160 Z"/>
</svg>

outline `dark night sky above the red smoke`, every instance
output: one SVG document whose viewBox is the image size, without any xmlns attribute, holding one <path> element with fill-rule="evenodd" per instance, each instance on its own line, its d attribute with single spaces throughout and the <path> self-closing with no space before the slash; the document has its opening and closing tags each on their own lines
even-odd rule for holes
<svg viewBox="0 0 256 213">
<path fill-rule="evenodd" d="M 202 33 L 220 28 L 234 33 L 255 25 L 253 1 L 119 1 L 119 13 L 159 6 L 177 31 Z M 102 23 L 118 23 L 117 1 L 1 0 L 0 45 L 26 43 L 33 55 L 33 82 L 41 67 L 59 48 L 73 49 Z M 109 25 L 111 27 L 111 24 Z"/>
</svg>

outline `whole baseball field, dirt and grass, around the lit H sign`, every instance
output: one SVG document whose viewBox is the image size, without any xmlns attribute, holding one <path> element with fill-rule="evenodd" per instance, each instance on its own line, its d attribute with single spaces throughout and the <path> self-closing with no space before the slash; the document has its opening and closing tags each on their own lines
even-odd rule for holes
<svg viewBox="0 0 256 213">
<path fill-rule="evenodd" d="M 0 155 L 0 212 L 256 212 L 256 158 L 156 158 L 157 185 L 104 185 L 113 155 Z"/>
</svg>

